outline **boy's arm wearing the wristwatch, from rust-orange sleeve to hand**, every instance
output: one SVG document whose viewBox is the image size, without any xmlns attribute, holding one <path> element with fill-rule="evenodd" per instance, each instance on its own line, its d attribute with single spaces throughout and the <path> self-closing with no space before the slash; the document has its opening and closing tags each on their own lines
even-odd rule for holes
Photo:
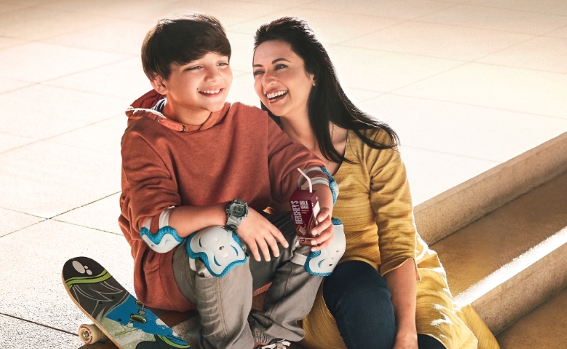
<svg viewBox="0 0 567 349">
<path fill-rule="evenodd" d="M 173 169 L 169 168 L 171 165 L 168 166 L 139 134 L 125 134 L 122 155 L 127 184 L 124 201 L 127 207 L 123 208 L 123 215 L 130 222 L 132 239 L 143 240 L 140 231 L 144 226 L 153 234 L 160 228 L 169 226 L 176 231 L 179 238 L 185 238 L 202 228 L 226 224 L 225 209 L 228 202 L 206 206 L 181 205 L 176 180 L 171 176 L 173 173 Z M 260 239 L 261 234 L 257 232 L 270 234 L 270 237 Z M 284 235 L 252 208 L 249 208 L 249 216 L 240 224 L 237 233 L 241 236 L 249 236 L 244 238 L 244 241 L 258 261 L 260 256 L 254 240 L 262 240 L 258 245 L 264 252 L 266 260 L 270 260 L 270 253 L 266 250 L 267 245 L 272 249 L 274 256 L 279 255 L 277 242 L 287 246 Z M 267 243 L 264 242 L 266 240 Z"/>
</svg>

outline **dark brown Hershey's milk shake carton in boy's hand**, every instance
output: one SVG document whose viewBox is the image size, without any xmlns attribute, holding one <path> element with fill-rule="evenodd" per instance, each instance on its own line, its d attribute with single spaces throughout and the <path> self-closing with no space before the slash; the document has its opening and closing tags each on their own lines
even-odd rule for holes
<svg viewBox="0 0 567 349">
<path fill-rule="evenodd" d="M 297 240 L 302 246 L 311 246 L 311 240 L 315 236 L 311 235 L 311 229 L 317 225 L 317 215 L 319 215 L 319 201 L 315 191 L 296 190 L 289 199 L 291 215 L 295 222 Z"/>
</svg>

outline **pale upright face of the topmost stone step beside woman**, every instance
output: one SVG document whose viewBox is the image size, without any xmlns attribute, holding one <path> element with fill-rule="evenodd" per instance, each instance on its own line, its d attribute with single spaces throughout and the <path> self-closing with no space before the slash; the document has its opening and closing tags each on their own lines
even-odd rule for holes
<svg viewBox="0 0 567 349">
<path fill-rule="evenodd" d="M 567 171 L 567 132 L 414 208 L 429 245 Z"/>
</svg>

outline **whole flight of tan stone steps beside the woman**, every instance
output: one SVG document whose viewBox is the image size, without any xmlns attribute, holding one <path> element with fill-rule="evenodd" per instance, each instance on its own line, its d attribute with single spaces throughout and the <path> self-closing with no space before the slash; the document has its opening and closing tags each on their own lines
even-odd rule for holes
<svg viewBox="0 0 567 349">
<path fill-rule="evenodd" d="M 472 304 L 503 349 L 567 348 L 567 133 L 417 205 L 415 216 L 456 301 Z M 194 343 L 196 313 L 161 317 Z M 92 348 L 116 347 L 81 347 Z"/>
</svg>

